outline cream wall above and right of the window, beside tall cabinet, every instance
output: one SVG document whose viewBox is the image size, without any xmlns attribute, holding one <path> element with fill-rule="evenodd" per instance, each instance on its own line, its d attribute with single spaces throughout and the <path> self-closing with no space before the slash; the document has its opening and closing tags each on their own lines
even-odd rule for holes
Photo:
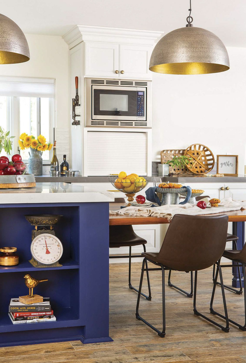
<svg viewBox="0 0 246 363">
<path fill-rule="evenodd" d="M 70 128 L 69 50 L 57 36 L 25 34 L 30 60 L 20 64 L 0 65 L 0 76 L 56 79 L 56 127 Z"/>
</svg>

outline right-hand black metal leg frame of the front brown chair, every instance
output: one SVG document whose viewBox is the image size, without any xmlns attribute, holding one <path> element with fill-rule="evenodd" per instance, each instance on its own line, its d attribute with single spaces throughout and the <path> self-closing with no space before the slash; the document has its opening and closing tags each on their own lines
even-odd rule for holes
<svg viewBox="0 0 246 363">
<path fill-rule="evenodd" d="M 224 304 L 224 310 L 225 310 L 225 319 L 226 319 L 226 326 L 222 326 L 220 324 L 218 324 L 216 321 L 209 319 L 208 317 L 206 317 L 205 315 L 199 313 L 197 311 L 196 308 L 196 292 L 197 292 L 197 271 L 195 271 L 195 282 L 194 282 L 194 300 L 193 300 L 193 311 L 194 314 L 197 316 L 200 316 L 204 319 L 206 319 L 207 321 L 209 321 L 210 323 L 213 323 L 214 325 L 218 326 L 219 328 L 221 328 L 221 330 L 225 331 L 226 333 L 229 332 L 229 319 L 228 319 L 228 314 L 227 314 L 227 307 L 226 307 L 226 299 L 225 299 L 225 291 L 224 291 L 224 284 L 223 284 L 223 279 L 222 279 L 222 272 L 221 272 L 221 267 L 220 264 L 218 262 L 216 262 L 217 264 L 217 269 L 216 269 L 216 275 L 215 275 L 215 281 L 214 281 L 214 286 L 213 286 L 213 292 L 212 292 L 212 297 L 211 297 L 211 302 L 213 303 L 213 298 L 214 298 L 214 293 L 215 293 L 215 288 L 216 288 L 216 281 L 218 278 L 218 272 L 220 273 L 220 281 L 221 281 L 221 291 L 222 291 L 222 298 L 223 298 L 223 304 Z M 210 312 L 211 311 L 211 303 L 210 303 Z M 213 314 L 213 313 L 212 313 Z M 223 317 L 222 315 L 218 314 L 219 316 Z"/>
</svg>

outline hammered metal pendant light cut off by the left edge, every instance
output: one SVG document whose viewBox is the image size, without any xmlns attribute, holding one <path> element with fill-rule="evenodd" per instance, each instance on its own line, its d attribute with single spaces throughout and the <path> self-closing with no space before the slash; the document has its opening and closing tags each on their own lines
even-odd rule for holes
<svg viewBox="0 0 246 363">
<path fill-rule="evenodd" d="M 0 14 L 0 64 L 22 63 L 29 59 L 24 33 L 13 20 Z"/>
</svg>

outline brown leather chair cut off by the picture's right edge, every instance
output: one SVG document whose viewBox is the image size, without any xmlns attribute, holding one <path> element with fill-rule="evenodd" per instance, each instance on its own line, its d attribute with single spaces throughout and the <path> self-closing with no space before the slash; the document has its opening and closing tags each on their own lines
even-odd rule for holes
<svg viewBox="0 0 246 363">
<path fill-rule="evenodd" d="M 243 246 L 243 248 L 241 250 L 237 250 L 237 249 L 233 249 L 233 250 L 225 250 L 223 253 L 223 257 L 229 258 L 229 260 L 235 262 L 237 264 L 237 268 L 238 268 L 238 274 L 239 274 L 239 283 L 240 283 L 240 290 L 235 290 L 235 289 L 230 289 L 230 290 L 235 290 L 238 291 L 238 293 L 240 293 L 240 291 L 242 291 L 242 280 L 241 280 L 241 272 L 240 272 L 240 267 L 242 267 L 243 269 L 243 282 L 244 284 L 246 284 L 246 244 Z M 231 265 L 223 265 L 223 267 L 230 267 Z M 217 272 L 217 271 L 216 271 Z M 239 329 L 246 331 L 246 286 L 244 285 L 244 314 L 245 314 L 245 323 L 244 325 L 241 325 L 231 319 L 229 319 L 229 322 L 233 323 L 234 325 L 238 326 Z M 213 295 L 211 298 L 211 308 L 210 311 L 212 314 L 214 315 L 218 315 L 221 318 L 226 319 L 225 316 L 217 313 L 216 311 L 214 311 L 213 309 Z"/>
</svg>

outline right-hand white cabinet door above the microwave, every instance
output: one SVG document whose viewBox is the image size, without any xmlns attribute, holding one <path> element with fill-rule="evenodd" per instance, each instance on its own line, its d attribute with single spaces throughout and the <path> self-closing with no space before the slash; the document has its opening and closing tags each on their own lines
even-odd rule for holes
<svg viewBox="0 0 246 363">
<path fill-rule="evenodd" d="M 149 71 L 151 51 L 152 47 L 148 45 L 121 44 L 120 78 L 151 78 Z"/>
</svg>

